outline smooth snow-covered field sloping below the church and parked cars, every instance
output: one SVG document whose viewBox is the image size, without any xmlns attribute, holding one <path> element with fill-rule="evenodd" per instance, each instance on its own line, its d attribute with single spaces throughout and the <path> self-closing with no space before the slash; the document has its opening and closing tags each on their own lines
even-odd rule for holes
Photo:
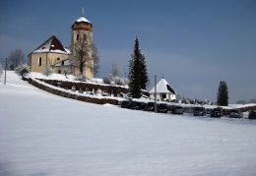
<svg viewBox="0 0 256 176">
<path fill-rule="evenodd" d="M 0 175 L 256 175 L 256 121 L 96 105 L 0 78 Z"/>
</svg>

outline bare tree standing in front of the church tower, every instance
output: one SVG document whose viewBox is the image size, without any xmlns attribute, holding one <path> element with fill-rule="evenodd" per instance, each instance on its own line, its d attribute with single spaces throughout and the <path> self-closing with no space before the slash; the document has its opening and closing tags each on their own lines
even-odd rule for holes
<svg viewBox="0 0 256 176">
<path fill-rule="evenodd" d="M 83 75 L 84 69 L 89 68 L 94 70 L 94 58 L 92 57 L 92 44 L 91 42 L 80 37 L 78 41 L 72 45 L 73 56 L 70 58 L 75 66 L 79 67 L 80 73 Z"/>
</svg>

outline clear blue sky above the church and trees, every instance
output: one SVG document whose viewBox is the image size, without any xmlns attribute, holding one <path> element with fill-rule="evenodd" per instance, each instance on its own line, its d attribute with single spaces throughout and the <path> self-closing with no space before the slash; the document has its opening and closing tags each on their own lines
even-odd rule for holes
<svg viewBox="0 0 256 176">
<path fill-rule="evenodd" d="M 256 98 L 255 0 L 0 1 L 0 58 L 26 55 L 54 34 L 70 46 L 81 17 L 94 25 L 100 77 L 112 62 L 123 76 L 135 37 L 146 55 L 151 85 L 162 74 L 180 95 L 216 101 L 221 80 L 229 103 Z"/>
</svg>

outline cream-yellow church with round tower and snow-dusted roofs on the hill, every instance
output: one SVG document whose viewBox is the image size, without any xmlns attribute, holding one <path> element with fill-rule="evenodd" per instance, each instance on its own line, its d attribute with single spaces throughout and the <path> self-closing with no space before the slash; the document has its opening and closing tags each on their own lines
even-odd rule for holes
<svg viewBox="0 0 256 176">
<path fill-rule="evenodd" d="M 94 65 L 92 52 L 93 24 L 84 17 L 84 11 L 82 17 L 73 23 L 71 29 L 71 49 L 65 47 L 53 34 L 28 55 L 29 66 L 32 72 L 42 73 L 46 66 L 51 66 L 54 72 L 58 74 L 63 74 L 64 69 L 68 69 L 70 74 L 79 74 L 79 63 L 72 61 L 74 58 L 73 46 L 79 40 L 84 40 L 88 44 L 88 57 L 92 58 L 88 59 L 91 62 L 88 65 L 91 67 Z M 83 69 L 83 74 L 86 77 L 94 77 L 92 69 L 88 67 Z"/>
</svg>

